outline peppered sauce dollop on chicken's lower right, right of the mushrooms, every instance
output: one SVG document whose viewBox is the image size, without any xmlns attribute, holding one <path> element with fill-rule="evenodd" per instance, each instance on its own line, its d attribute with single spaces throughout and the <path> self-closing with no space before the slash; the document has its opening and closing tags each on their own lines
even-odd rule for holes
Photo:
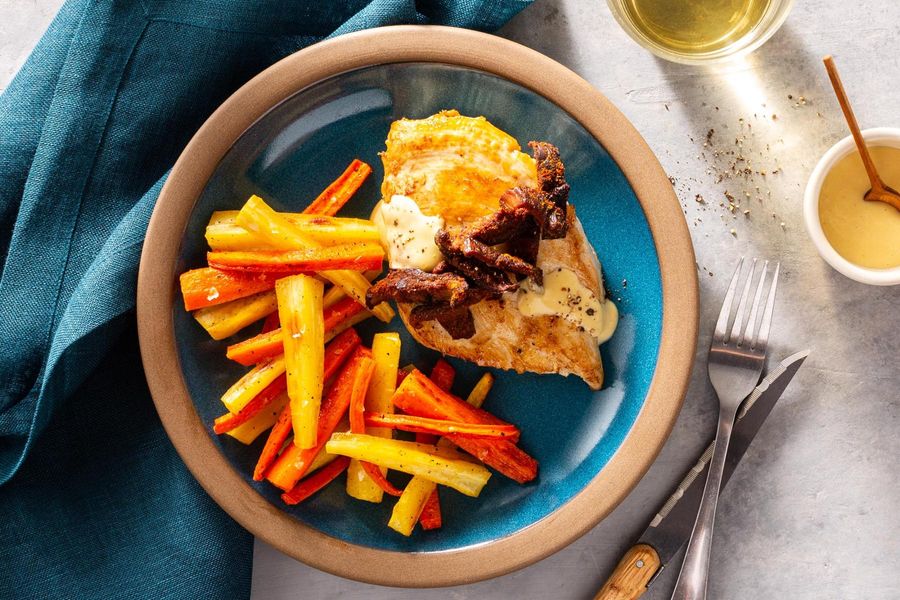
<svg viewBox="0 0 900 600">
<path fill-rule="evenodd" d="M 619 311 L 611 300 L 600 301 L 569 269 L 544 272 L 544 287 L 526 280 L 518 291 L 519 312 L 526 317 L 557 315 L 583 327 L 598 344 L 616 330 Z"/>
</svg>

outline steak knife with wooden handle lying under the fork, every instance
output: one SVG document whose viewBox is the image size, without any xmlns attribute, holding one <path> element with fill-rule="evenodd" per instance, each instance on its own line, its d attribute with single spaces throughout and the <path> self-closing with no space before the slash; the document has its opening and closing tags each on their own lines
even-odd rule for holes
<svg viewBox="0 0 900 600">
<path fill-rule="evenodd" d="M 809 350 L 803 350 L 781 361 L 744 400 L 728 447 L 723 487 L 807 356 Z M 634 600 L 641 597 L 669 560 L 687 543 L 700 507 L 712 450 L 711 441 L 638 541 L 619 561 L 594 600 Z"/>
</svg>

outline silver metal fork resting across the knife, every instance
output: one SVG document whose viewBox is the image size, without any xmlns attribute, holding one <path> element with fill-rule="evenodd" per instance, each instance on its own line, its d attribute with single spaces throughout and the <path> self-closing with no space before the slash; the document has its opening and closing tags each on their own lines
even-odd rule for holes
<svg viewBox="0 0 900 600">
<path fill-rule="evenodd" d="M 725 301 L 719 312 L 719 320 L 716 322 L 716 331 L 709 347 L 709 380 L 719 396 L 719 427 L 716 432 L 712 460 L 709 463 L 709 475 L 706 478 L 706 486 L 703 488 L 703 499 L 700 502 L 700 510 L 697 513 L 697 520 L 694 522 L 691 541 L 688 542 L 672 600 L 706 598 L 706 581 L 709 573 L 713 525 L 716 520 L 716 503 L 719 499 L 719 488 L 722 485 L 722 470 L 725 467 L 725 457 L 728 455 L 731 430 L 734 427 L 734 419 L 741 402 L 759 382 L 759 376 L 766 362 L 766 345 L 769 341 L 769 329 L 775 309 L 775 289 L 778 287 L 778 271 L 781 265 L 775 263 L 775 272 L 766 295 L 762 322 L 757 331 L 756 323 L 766 275 L 769 271 L 769 261 L 763 262 L 762 269 L 760 269 L 753 306 L 750 308 L 750 316 L 744 327 L 744 313 L 750 297 L 751 284 L 757 271 L 756 263 L 757 259 L 754 258 L 741 299 L 738 302 L 731 333 L 728 333 L 732 304 L 743 271 L 744 259 L 741 258 L 738 263 L 734 276 L 731 278 L 731 284 L 728 286 L 728 292 L 725 294 Z"/>
</svg>

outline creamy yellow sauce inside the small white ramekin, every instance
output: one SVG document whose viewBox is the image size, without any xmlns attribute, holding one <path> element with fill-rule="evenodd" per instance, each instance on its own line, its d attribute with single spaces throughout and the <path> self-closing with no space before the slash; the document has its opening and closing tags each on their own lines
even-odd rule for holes
<svg viewBox="0 0 900 600">
<path fill-rule="evenodd" d="M 900 148 L 869 148 L 886 185 L 900 190 Z M 869 269 L 900 266 L 900 211 L 867 202 L 871 185 L 859 153 L 842 158 L 819 193 L 819 221 L 828 243 L 848 261 Z"/>
</svg>

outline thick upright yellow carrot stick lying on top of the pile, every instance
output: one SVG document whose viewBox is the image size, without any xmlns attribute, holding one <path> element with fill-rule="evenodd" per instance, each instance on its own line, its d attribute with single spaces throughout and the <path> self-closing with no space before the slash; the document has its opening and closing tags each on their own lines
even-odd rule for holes
<svg viewBox="0 0 900 600">
<path fill-rule="evenodd" d="M 285 277 L 275 284 L 291 424 L 299 448 L 316 445 L 325 369 L 324 287 L 308 275 Z"/>
</svg>

